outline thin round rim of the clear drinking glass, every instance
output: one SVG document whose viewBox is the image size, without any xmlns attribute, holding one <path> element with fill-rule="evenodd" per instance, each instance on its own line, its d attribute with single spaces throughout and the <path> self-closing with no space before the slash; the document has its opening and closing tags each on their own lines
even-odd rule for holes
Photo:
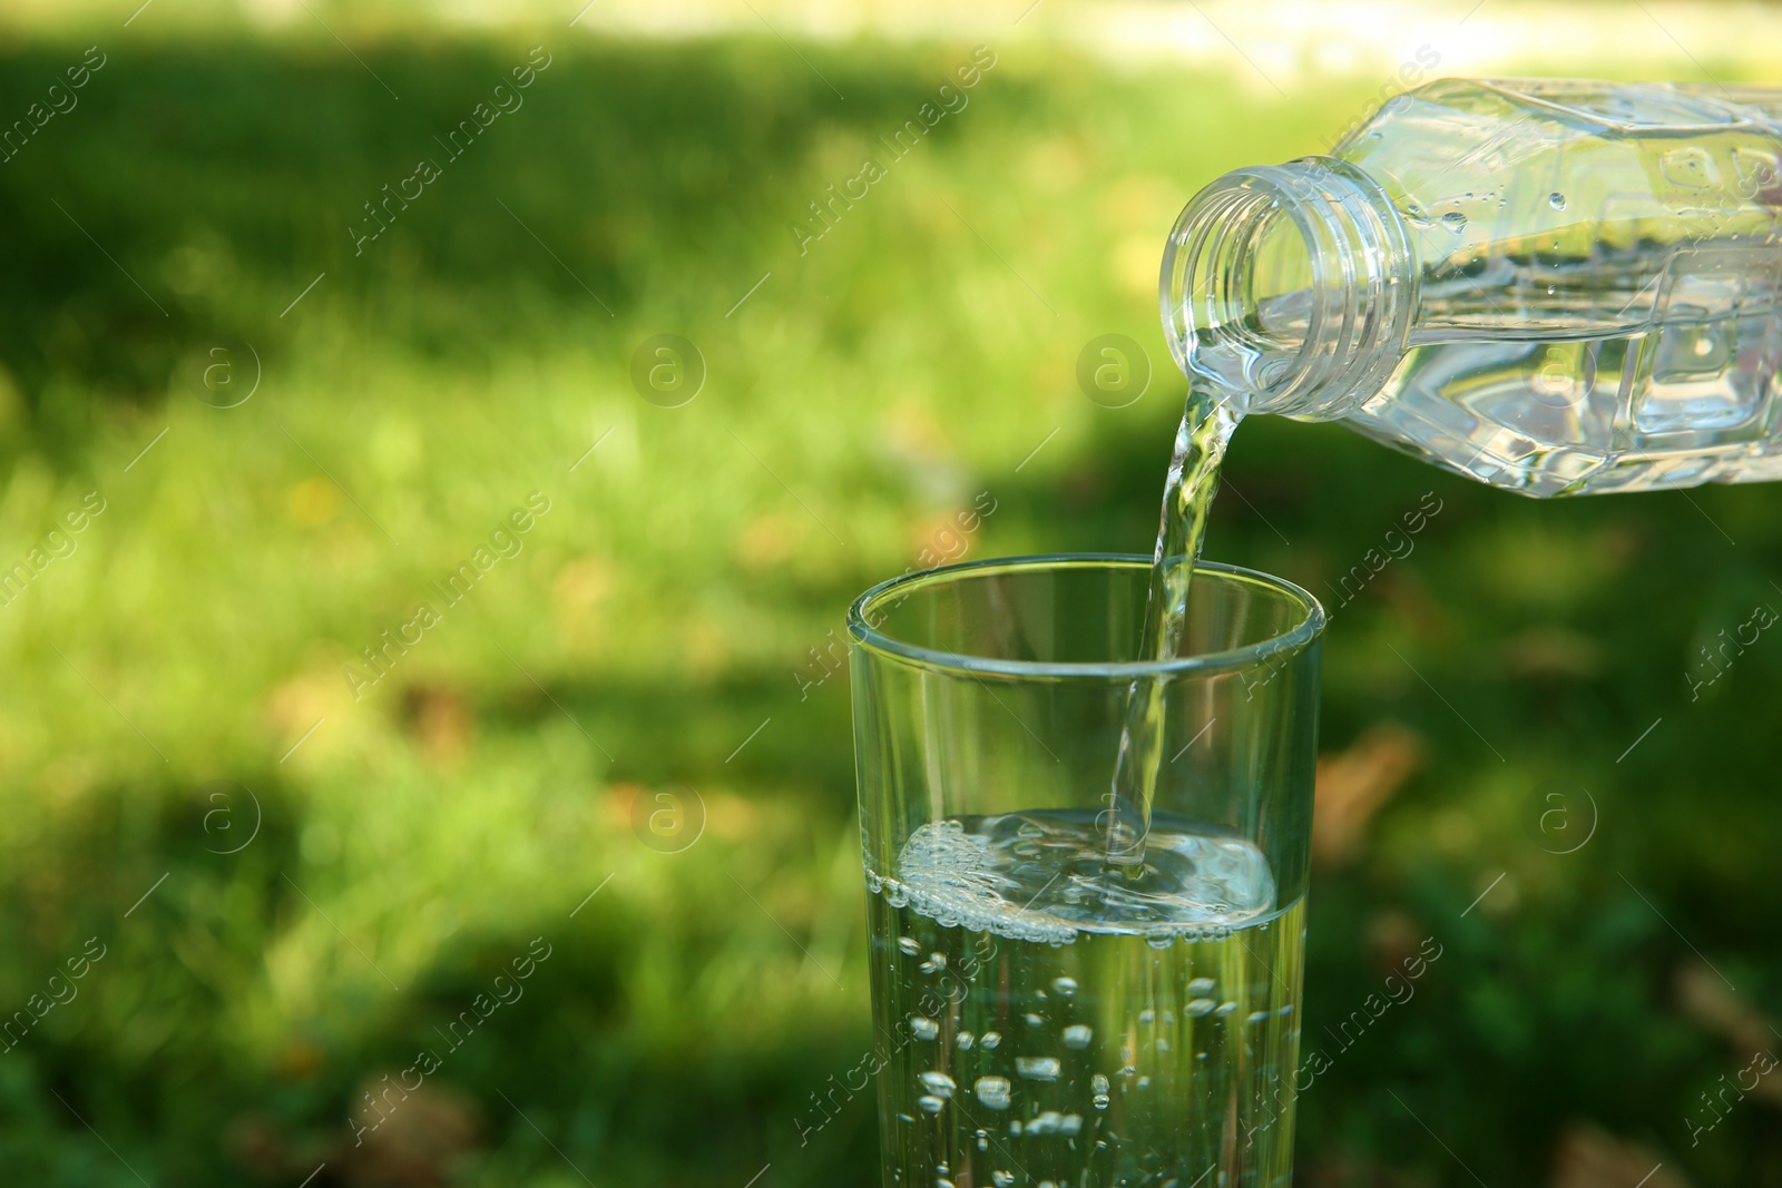
<svg viewBox="0 0 1782 1188">
<path fill-rule="evenodd" d="M 873 652 L 898 657 L 903 661 L 912 661 L 925 668 L 966 673 L 971 677 L 978 675 L 996 675 L 996 677 L 1025 677 L 1025 679 L 1119 679 L 1133 680 L 1139 677 L 1176 677 L 1176 675 L 1215 675 L 1226 671 L 1237 671 L 1244 668 L 1253 668 L 1262 661 L 1285 654 L 1297 652 L 1310 647 L 1322 632 L 1328 622 L 1324 613 L 1324 604 L 1320 604 L 1310 591 L 1296 586 L 1285 577 L 1276 577 L 1274 574 L 1263 574 L 1262 570 L 1244 568 L 1240 565 L 1226 565 L 1222 561 L 1196 561 L 1194 570 L 1208 574 L 1222 574 L 1226 577 L 1237 577 L 1253 581 L 1260 586 L 1267 586 L 1276 593 L 1285 595 L 1299 609 L 1299 620 L 1287 631 L 1269 636 L 1267 639 L 1258 639 L 1256 643 L 1247 643 L 1240 648 L 1226 648 L 1222 652 L 1201 652 L 1199 655 L 1178 655 L 1171 661 L 1098 661 L 1098 663 L 1060 663 L 1060 661 L 1005 661 L 991 659 L 985 655 L 962 655 L 959 652 L 943 652 L 939 648 L 925 648 L 905 639 L 896 639 L 886 632 L 873 627 L 866 611 L 871 604 L 882 602 L 887 595 L 902 591 L 907 598 L 911 593 L 923 586 L 946 584 L 959 581 L 960 577 L 984 574 L 989 570 L 1069 570 L 1069 568 L 1101 568 L 1101 570 L 1121 570 L 1121 568 L 1151 568 L 1151 557 L 1132 552 L 1053 552 L 1053 554 L 1032 554 L 1019 557 L 987 557 L 984 561 L 959 561 L 955 565 L 939 565 L 927 570 L 918 570 L 912 574 L 902 574 L 887 581 L 879 582 L 870 588 L 848 607 L 848 636 L 859 645 L 871 648 Z"/>
</svg>

